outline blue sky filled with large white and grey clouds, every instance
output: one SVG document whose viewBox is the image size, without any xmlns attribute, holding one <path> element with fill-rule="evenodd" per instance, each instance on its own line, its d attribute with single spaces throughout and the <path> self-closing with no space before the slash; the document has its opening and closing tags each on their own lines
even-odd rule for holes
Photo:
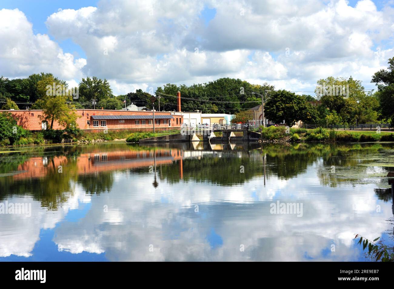
<svg viewBox="0 0 394 289">
<path fill-rule="evenodd" d="M 0 70 L 50 70 L 71 85 L 95 75 L 114 94 L 220 77 L 310 91 L 318 79 L 351 75 L 375 87 L 372 74 L 394 56 L 393 2 L 281 2 L 4 0 L 2 18 L 19 20 L 0 20 Z M 9 58 L 12 48 L 19 57 Z"/>
</svg>

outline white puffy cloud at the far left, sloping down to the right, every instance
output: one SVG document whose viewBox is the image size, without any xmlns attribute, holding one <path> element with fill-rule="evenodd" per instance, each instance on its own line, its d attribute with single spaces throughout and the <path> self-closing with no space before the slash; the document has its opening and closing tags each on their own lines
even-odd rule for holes
<svg viewBox="0 0 394 289">
<path fill-rule="evenodd" d="M 46 34 L 34 34 L 19 9 L 0 10 L 0 70 L 5 77 L 52 72 L 62 79 L 82 76 L 86 59 L 74 59 Z"/>
</svg>

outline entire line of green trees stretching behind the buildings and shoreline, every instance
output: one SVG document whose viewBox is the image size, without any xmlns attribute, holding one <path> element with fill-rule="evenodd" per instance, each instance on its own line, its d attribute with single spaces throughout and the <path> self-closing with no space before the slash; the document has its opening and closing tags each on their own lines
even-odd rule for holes
<svg viewBox="0 0 394 289">
<path fill-rule="evenodd" d="M 287 125 L 301 120 L 304 123 L 325 125 L 353 125 L 356 123 L 393 122 L 394 116 L 394 57 L 388 60 L 387 70 L 379 70 L 372 76 L 377 90 L 366 91 L 361 81 L 353 77 L 327 77 L 319 79 L 317 85 L 325 87 L 348 86 L 348 96 L 336 93 L 321 94 L 316 89 L 313 96 L 297 95 L 286 90 L 275 90 L 273 85 L 251 84 L 234 78 L 220 78 L 203 84 L 175 85 L 171 83 L 149 92 L 141 89 L 128 94 L 114 96 L 109 82 L 98 77 L 86 77 L 73 88 L 75 97 L 64 80 L 51 73 L 32 74 L 24 79 L 0 77 L 1 109 L 43 109 L 43 120 L 52 128 L 54 121 L 72 126 L 76 120 L 74 109 L 104 108 L 122 109 L 130 103 L 152 108 L 152 95 L 160 98 L 160 107 L 155 109 L 172 111 L 177 109 L 177 92 L 180 91 L 182 111 L 200 110 L 203 113 L 235 114 L 237 120 L 253 119 L 253 107 L 261 105 L 261 96 L 267 90 L 266 118 Z M 61 93 L 48 95 L 48 85 L 63 87 Z M 66 94 L 64 93 L 66 87 Z M 335 91 L 335 90 L 334 90 Z M 69 93 L 68 93 L 69 92 Z"/>
</svg>

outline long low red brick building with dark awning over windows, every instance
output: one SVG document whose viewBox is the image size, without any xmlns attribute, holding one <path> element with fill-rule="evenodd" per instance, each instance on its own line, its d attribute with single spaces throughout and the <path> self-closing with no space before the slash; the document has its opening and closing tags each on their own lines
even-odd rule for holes
<svg viewBox="0 0 394 289">
<path fill-rule="evenodd" d="M 41 121 L 39 116 L 42 110 L 0 110 L 0 112 L 11 112 L 17 119 L 18 125 L 30 131 L 39 131 L 49 128 L 48 123 Z M 106 110 L 106 109 L 77 109 L 80 116 L 76 122 L 78 127 L 89 131 L 102 131 L 103 129 L 131 129 L 136 131 L 151 131 L 153 129 L 152 111 L 130 111 L 130 110 Z M 183 116 L 172 112 L 154 112 L 154 124 L 158 130 L 167 130 L 180 127 Z M 54 129 L 63 129 L 57 121 Z"/>
</svg>

